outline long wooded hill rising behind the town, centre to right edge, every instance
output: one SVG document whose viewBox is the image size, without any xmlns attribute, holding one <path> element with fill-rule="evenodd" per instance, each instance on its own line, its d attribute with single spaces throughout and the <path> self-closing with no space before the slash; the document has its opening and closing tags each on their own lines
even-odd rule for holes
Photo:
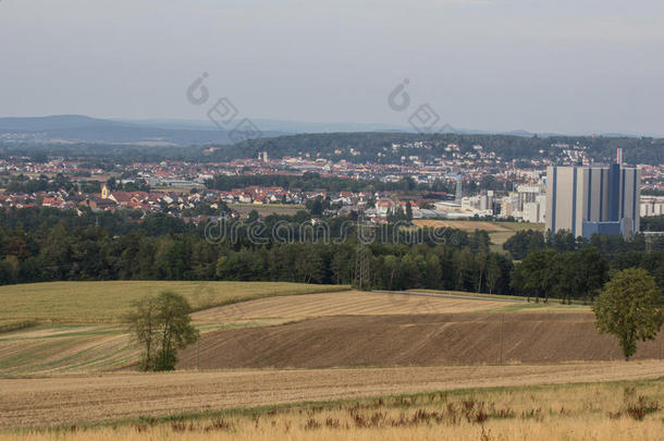
<svg viewBox="0 0 664 441">
<path fill-rule="evenodd" d="M 418 142 L 423 142 L 418 144 Z M 209 160 L 229 160 L 256 157 L 268 151 L 270 158 L 309 155 L 310 158 L 353 162 L 379 160 L 382 163 L 399 163 L 402 157 L 416 156 L 420 161 L 435 161 L 450 157 L 445 151 L 455 144 L 462 154 L 472 154 L 476 145 L 483 151 L 493 152 L 504 161 L 530 161 L 549 158 L 556 160 L 562 155 L 561 145 L 583 146 L 585 154 L 595 162 L 608 162 L 615 158 L 617 148 L 624 151 L 629 164 L 659 164 L 664 161 L 664 139 L 608 137 L 608 136 L 518 136 L 502 134 L 445 133 L 422 135 L 416 133 L 354 132 L 313 133 L 279 137 L 262 137 L 229 146 L 209 155 Z"/>
</svg>

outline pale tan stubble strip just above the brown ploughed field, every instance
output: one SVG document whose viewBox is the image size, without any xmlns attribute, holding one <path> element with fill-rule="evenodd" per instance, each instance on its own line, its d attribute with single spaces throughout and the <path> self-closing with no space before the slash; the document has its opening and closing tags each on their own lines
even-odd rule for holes
<svg viewBox="0 0 664 441">
<path fill-rule="evenodd" d="M 516 302 L 482 298 L 430 297 L 408 294 L 345 291 L 270 297 L 205 309 L 192 315 L 194 321 L 290 318 L 324 316 L 381 316 L 394 314 L 455 314 L 516 305 Z"/>
</svg>

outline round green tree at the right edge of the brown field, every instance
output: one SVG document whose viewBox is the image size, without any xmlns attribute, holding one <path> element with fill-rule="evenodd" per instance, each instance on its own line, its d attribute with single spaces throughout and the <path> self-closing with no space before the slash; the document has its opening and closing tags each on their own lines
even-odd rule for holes
<svg viewBox="0 0 664 441">
<path fill-rule="evenodd" d="M 654 279 L 640 268 L 613 274 L 592 309 L 601 333 L 614 334 L 625 359 L 637 352 L 637 341 L 654 340 L 664 319 L 664 296 Z"/>
</svg>

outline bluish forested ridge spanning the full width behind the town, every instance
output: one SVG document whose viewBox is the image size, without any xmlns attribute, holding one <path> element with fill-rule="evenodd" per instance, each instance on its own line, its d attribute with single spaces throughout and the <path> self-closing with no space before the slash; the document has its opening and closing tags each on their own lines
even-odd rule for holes
<svg viewBox="0 0 664 441">
<path fill-rule="evenodd" d="M 415 146 L 414 143 L 422 142 Z M 393 150 L 392 145 L 409 146 Z M 193 145 L 187 147 L 150 147 L 116 144 L 2 144 L 0 156 L 25 156 L 35 161 L 47 157 L 86 159 L 106 167 L 112 163 L 158 162 L 176 160 L 189 162 L 229 161 L 256 158 L 268 151 L 271 158 L 306 156 L 311 158 L 345 159 L 352 162 L 398 163 L 404 151 L 422 160 L 440 158 L 448 144 L 459 146 L 460 152 L 472 152 L 475 145 L 494 152 L 504 161 L 555 158 L 561 152 L 556 145 L 583 146 L 595 161 L 607 161 L 622 148 L 628 163 L 664 162 L 664 139 L 627 136 L 515 136 L 493 134 L 416 134 L 416 133 L 316 133 L 250 139 L 234 145 Z M 351 151 L 354 150 L 354 152 Z M 380 154 L 380 157 L 379 157 Z M 106 163 L 104 161 L 110 161 Z"/>
</svg>

